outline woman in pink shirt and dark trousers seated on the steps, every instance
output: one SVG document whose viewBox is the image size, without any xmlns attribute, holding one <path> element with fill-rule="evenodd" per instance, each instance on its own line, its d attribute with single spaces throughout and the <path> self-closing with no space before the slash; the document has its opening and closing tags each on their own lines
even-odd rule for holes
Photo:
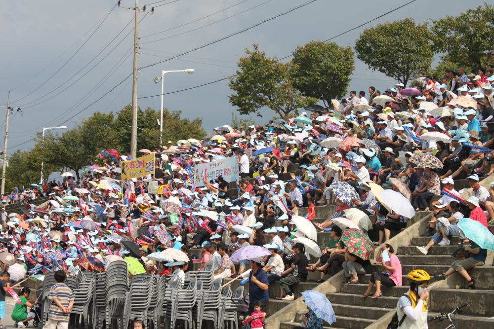
<svg viewBox="0 0 494 329">
<path fill-rule="evenodd" d="M 381 253 L 386 253 L 389 255 L 389 260 L 384 261 L 383 257 L 381 257 Z M 387 243 L 381 245 L 381 248 L 377 250 L 377 258 L 376 261 L 380 261 L 382 266 L 386 269 L 386 272 L 374 272 L 371 274 L 371 278 L 369 279 L 369 288 L 367 291 L 361 296 L 365 298 L 372 293 L 372 287 L 375 284 L 375 293 L 371 297 L 375 299 L 379 296 L 382 296 L 381 285 L 385 287 L 400 287 L 402 285 L 402 274 L 401 274 L 401 263 L 400 259 L 393 254 L 393 247 Z"/>
</svg>

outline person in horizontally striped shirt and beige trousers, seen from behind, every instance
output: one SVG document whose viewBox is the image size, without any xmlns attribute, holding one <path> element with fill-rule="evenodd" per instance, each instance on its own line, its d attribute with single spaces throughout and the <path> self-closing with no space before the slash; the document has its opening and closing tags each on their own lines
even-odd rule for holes
<svg viewBox="0 0 494 329">
<path fill-rule="evenodd" d="M 66 279 L 64 271 L 56 271 L 54 279 L 56 284 L 51 287 L 48 295 L 52 301 L 48 311 L 48 322 L 43 329 L 68 329 L 74 296 L 70 288 L 64 284 Z"/>
</svg>

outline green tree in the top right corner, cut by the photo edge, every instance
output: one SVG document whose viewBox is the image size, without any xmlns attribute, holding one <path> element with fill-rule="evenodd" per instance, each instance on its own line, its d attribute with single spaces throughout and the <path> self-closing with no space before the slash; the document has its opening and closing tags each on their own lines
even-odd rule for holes
<svg viewBox="0 0 494 329">
<path fill-rule="evenodd" d="M 432 23 L 435 52 L 447 53 L 457 66 L 480 68 L 489 64 L 490 55 L 485 52 L 494 48 L 494 7 L 491 4 L 468 9 L 456 17 L 446 15 Z"/>
</svg>

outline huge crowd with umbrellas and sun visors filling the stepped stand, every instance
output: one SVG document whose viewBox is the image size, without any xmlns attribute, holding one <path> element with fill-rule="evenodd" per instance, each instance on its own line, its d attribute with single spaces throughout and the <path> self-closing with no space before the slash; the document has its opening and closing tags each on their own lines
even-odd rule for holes
<svg viewBox="0 0 494 329">
<path fill-rule="evenodd" d="M 2 200 L 4 207 L 21 205 L 18 213 L 2 209 L 0 242 L 12 255 L 0 257 L 3 271 L 8 274 L 9 267 L 20 264 L 29 275 L 63 271 L 77 276 L 132 257 L 141 265 L 140 273 L 178 270 L 185 278 L 194 262 L 202 269 L 212 260 L 215 278 L 235 278 L 251 270 L 250 313 L 268 305 L 267 290 L 273 282 L 282 287 L 279 298 L 293 300 L 294 287 L 307 280 L 309 271 L 319 271 L 322 282 L 326 273 L 343 270 L 350 284 L 360 283 L 360 274 L 371 274 L 362 297 L 375 285 L 372 298 L 378 298 L 381 285 L 402 285 L 399 259 L 386 244 L 391 232 L 405 228 L 414 211 L 431 210 L 434 217 L 424 236 L 432 239 L 419 250 L 427 255 L 432 245 L 449 245 L 449 237 L 459 235 L 471 243 L 465 250 L 478 256 L 453 264 L 441 278 L 454 271 L 468 276 L 466 270 L 485 261 L 485 249 L 469 241 L 456 223 L 470 218 L 487 226 L 494 219 L 494 187 L 488 190 L 479 184 L 494 173 L 492 74 L 492 67 L 468 75 L 463 69 L 447 71 L 441 79 L 421 78 L 421 88 L 398 83 L 381 94 L 370 87 L 369 99 L 364 91 L 359 96 L 352 91 L 329 108 L 307 107 L 310 114 L 264 126 L 221 126 L 201 141 L 181 140 L 176 146 L 169 141 L 154 151 L 140 151 L 140 156 L 155 156 L 154 173 L 143 177 L 122 178 L 122 161 L 132 160 L 127 154 L 78 178 L 65 173 L 62 182 L 34 184 L 22 192 L 16 186 Z M 239 166 L 236 184 L 195 170 L 225 158 L 234 158 Z M 194 173 L 203 187 L 196 187 Z M 461 200 L 453 179 L 465 176 L 473 192 Z M 451 193 L 431 203 L 441 195 L 441 183 Z M 155 186 L 160 191 L 150 192 Z M 407 207 L 398 210 L 385 201 L 381 193 L 388 189 L 403 197 L 411 210 L 403 212 Z M 47 198 L 41 206 L 31 203 L 42 196 Z M 313 221 L 320 218 L 317 206 L 332 204 L 337 207 L 333 216 L 322 223 Z M 308 208 L 305 218 L 301 207 Z M 318 232 L 330 232 L 321 255 L 296 241 L 309 235 L 297 225 L 299 218 L 312 221 Z M 377 261 L 387 274 L 372 272 L 369 255 L 349 252 L 342 236 L 350 224 L 341 219 L 351 221 L 368 239 L 369 255 L 376 247 Z M 230 259 L 251 245 L 264 247 L 269 255 Z M 153 260 L 167 249 L 179 250 L 189 260 Z M 201 249 L 201 256 L 191 249 Z M 319 259 L 309 266 L 311 255 Z M 421 292 L 416 293 L 421 299 Z M 405 310 L 409 302 L 403 301 Z"/>
</svg>

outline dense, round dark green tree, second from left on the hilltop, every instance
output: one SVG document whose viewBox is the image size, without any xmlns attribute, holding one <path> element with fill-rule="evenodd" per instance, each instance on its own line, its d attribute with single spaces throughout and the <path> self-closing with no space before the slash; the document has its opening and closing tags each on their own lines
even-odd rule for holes
<svg viewBox="0 0 494 329">
<path fill-rule="evenodd" d="M 322 99 L 329 107 L 332 99 L 346 94 L 354 69 L 351 47 L 310 41 L 293 51 L 290 81 L 302 95 Z"/>
</svg>

